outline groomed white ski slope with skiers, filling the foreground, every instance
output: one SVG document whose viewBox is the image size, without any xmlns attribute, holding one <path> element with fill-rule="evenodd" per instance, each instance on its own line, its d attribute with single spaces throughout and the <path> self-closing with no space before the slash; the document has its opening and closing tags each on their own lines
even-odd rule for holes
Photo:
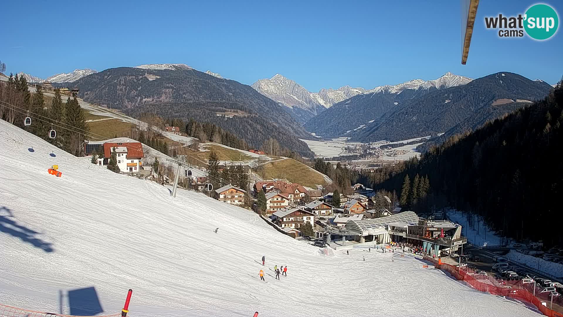
<svg viewBox="0 0 563 317">
<path fill-rule="evenodd" d="M 248 210 L 184 190 L 172 198 L 5 121 L 0 149 L 6 305 L 68 314 L 68 292 L 94 287 L 104 314 L 119 312 L 132 288 L 132 317 L 538 316 L 412 257 L 323 256 Z M 62 177 L 47 173 L 53 164 Z M 258 278 L 262 256 L 267 283 Z M 288 276 L 275 280 L 274 265 L 287 265 Z"/>
</svg>

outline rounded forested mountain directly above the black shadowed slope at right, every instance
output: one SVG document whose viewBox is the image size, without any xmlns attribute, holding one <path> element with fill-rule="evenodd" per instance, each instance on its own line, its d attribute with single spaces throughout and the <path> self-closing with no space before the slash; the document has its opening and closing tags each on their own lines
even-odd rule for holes
<svg viewBox="0 0 563 317">
<path fill-rule="evenodd" d="M 435 90 L 412 99 L 355 133 L 352 140 L 404 140 L 445 132 L 441 138 L 444 140 L 540 100 L 551 89 L 546 82 L 515 73 L 490 74 L 463 86 Z"/>
</svg>

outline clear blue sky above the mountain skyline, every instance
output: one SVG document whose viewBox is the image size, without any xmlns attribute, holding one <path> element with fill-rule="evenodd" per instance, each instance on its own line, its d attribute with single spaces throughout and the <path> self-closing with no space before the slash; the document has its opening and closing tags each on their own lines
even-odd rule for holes
<svg viewBox="0 0 563 317">
<path fill-rule="evenodd" d="M 562 32 L 501 39 L 484 16 L 524 13 L 533 1 L 481 1 L 467 65 L 460 3 L 452 1 L 9 1 L 0 7 L 6 73 L 185 63 L 245 84 L 276 73 L 311 91 L 374 86 L 450 71 L 499 71 L 556 83 Z M 561 19 L 563 3 L 544 2 Z M 560 27 L 562 28 L 562 27 Z"/>
</svg>

